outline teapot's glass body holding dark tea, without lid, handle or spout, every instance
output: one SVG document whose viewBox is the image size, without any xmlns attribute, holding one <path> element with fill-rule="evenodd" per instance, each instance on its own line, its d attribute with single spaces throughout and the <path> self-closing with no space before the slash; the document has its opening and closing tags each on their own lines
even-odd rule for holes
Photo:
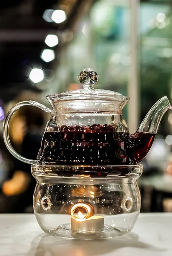
<svg viewBox="0 0 172 256">
<path fill-rule="evenodd" d="M 57 102 L 43 136 L 39 164 L 88 166 L 130 162 L 126 149 L 129 130 L 119 102 Z"/>
</svg>

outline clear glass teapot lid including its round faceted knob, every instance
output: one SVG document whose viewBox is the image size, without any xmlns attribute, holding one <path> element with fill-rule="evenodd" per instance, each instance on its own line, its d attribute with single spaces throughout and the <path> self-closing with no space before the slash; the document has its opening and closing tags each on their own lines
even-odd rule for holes
<svg viewBox="0 0 172 256">
<path fill-rule="evenodd" d="M 72 99 L 107 99 L 128 101 L 129 97 L 123 96 L 120 93 L 111 90 L 94 89 L 93 85 L 98 81 L 99 75 L 87 67 L 78 75 L 78 80 L 83 85 L 83 89 L 70 90 L 59 94 L 52 94 L 46 96 L 47 99 L 57 98 L 58 100 L 72 100 Z"/>
</svg>

